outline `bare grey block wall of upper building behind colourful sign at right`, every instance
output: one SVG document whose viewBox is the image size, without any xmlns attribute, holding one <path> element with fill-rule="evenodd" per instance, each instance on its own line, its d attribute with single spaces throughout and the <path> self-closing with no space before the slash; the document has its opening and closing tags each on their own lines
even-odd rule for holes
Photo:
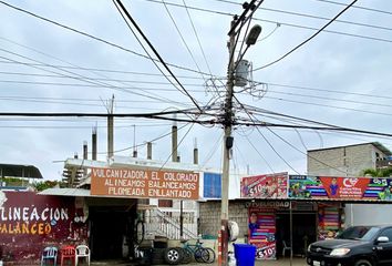
<svg viewBox="0 0 392 266">
<path fill-rule="evenodd" d="M 359 176 L 365 168 L 375 168 L 376 153 L 384 156 L 370 143 L 308 151 L 308 174 L 342 176 L 343 171 L 347 176 Z"/>
</svg>

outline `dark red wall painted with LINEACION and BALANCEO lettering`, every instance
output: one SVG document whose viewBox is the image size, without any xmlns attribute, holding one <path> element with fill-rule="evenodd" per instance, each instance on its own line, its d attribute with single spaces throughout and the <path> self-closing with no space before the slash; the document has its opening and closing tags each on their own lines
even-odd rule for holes
<svg viewBox="0 0 392 266">
<path fill-rule="evenodd" d="M 0 246 L 17 262 L 38 259 L 44 245 L 86 241 L 86 218 L 74 197 L 0 191 Z"/>
</svg>

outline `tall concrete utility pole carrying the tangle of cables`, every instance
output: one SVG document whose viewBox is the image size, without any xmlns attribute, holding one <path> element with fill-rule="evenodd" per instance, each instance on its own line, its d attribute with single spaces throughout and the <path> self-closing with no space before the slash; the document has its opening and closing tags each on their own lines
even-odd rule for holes
<svg viewBox="0 0 392 266">
<path fill-rule="evenodd" d="M 231 21 L 233 29 L 236 24 L 237 17 Z M 229 63 L 227 69 L 226 83 L 226 102 L 225 102 L 225 117 L 224 117 L 224 158 L 223 158 L 223 174 L 221 174 L 221 211 L 220 211 L 220 254 L 219 265 L 227 266 L 228 255 L 228 188 L 229 188 L 229 172 L 230 172 L 230 150 L 233 147 L 231 124 L 233 124 L 233 90 L 234 90 L 234 52 L 235 52 L 235 37 L 236 32 L 229 34 L 228 50 Z"/>
</svg>

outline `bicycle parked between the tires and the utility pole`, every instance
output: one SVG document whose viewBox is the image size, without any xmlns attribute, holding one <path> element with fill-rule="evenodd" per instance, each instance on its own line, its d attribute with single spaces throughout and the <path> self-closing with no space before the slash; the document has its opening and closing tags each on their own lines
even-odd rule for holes
<svg viewBox="0 0 392 266">
<path fill-rule="evenodd" d="M 192 255 L 197 263 L 208 263 L 215 262 L 215 252 L 213 248 L 204 247 L 203 243 L 197 239 L 195 244 L 189 244 L 187 241 L 182 242 L 183 244 L 183 263 L 190 263 Z"/>
</svg>

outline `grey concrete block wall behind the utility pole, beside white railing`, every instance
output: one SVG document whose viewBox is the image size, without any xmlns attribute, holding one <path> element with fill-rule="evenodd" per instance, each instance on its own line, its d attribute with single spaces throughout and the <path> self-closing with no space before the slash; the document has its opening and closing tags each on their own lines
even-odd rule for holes
<svg viewBox="0 0 392 266">
<path fill-rule="evenodd" d="M 199 234 L 218 236 L 220 229 L 220 202 L 202 202 L 199 204 Z M 245 202 L 229 203 L 229 221 L 234 221 L 239 226 L 239 237 L 248 233 L 248 208 Z"/>
</svg>

